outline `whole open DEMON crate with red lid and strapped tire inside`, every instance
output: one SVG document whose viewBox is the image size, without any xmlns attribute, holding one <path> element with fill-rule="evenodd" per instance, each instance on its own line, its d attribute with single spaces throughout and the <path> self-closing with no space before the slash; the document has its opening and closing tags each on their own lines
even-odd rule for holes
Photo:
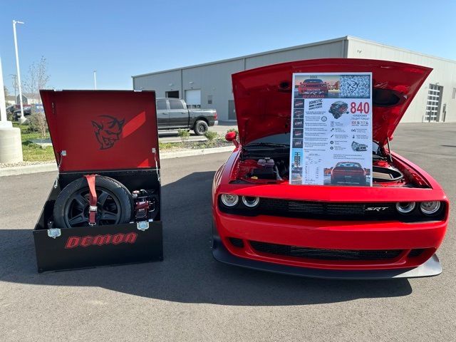
<svg viewBox="0 0 456 342">
<path fill-rule="evenodd" d="M 41 98 L 58 176 L 33 230 L 38 271 L 162 260 L 155 93 Z"/>
</svg>

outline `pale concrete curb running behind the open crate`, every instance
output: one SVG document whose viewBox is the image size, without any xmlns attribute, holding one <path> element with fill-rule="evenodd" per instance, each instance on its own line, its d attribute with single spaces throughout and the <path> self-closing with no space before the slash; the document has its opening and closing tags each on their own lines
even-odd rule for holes
<svg viewBox="0 0 456 342">
<path fill-rule="evenodd" d="M 167 153 L 165 152 L 165 153 L 160 153 L 160 160 L 181 158 L 181 157 L 192 157 L 195 155 L 212 155 L 213 153 L 232 152 L 232 150 L 234 150 L 234 146 L 205 148 L 202 150 L 184 150 L 184 151 L 167 152 Z M 57 171 L 57 165 L 55 162 L 49 162 L 46 164 L 4 167 L 4 168 L 0 169 L 0 177 L 30 175 L 31 173 L 53 172 L 53 171 L 54 172 Z"/>
</svg>

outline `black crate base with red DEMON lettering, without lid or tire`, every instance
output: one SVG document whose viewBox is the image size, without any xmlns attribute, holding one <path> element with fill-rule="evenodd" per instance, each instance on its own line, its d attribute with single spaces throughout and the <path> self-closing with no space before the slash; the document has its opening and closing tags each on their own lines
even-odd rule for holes
<svg viewBox="0 0 456 342">
<path fill-rule="evenodd" d="M 38 272 L 130 264 L 163 259 L 160 220 L 159 170 L 65 172 L 44 204 L 33 229 Z M 61 189 L 83 175 L 97 174 L 122 182 L 128 190 L 154 189 L 159 197 L 158 215 L 153 222 L 49 229 L 53 206 Z"/>
</svg>

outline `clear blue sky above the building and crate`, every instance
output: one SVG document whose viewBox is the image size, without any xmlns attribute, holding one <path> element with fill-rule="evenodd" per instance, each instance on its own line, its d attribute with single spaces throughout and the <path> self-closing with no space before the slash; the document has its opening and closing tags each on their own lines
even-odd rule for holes
<svg viewBox="0 0 456 342">
<path fill-rule="evenodd" d="M 351 35 L 456 59 L 456 1 L 1 1 L 0 56 L 12 90 L 45 56 L 49 88 L 131 89 L 130 76 Z"/>
</svg>

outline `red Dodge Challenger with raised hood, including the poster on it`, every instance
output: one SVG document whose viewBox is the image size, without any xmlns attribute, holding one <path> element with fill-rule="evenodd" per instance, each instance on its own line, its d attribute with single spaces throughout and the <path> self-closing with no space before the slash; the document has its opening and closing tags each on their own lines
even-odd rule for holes
<svg viewBox="0 0 456 342">
<path fill-rule="evenodd" d="M 239 135 L 214 175 L 214 258 L 325 278 L 440 274 L 447 196 L 390 144 L 430 72 L 329 58 L 235 73 Z"/>
</svg>

